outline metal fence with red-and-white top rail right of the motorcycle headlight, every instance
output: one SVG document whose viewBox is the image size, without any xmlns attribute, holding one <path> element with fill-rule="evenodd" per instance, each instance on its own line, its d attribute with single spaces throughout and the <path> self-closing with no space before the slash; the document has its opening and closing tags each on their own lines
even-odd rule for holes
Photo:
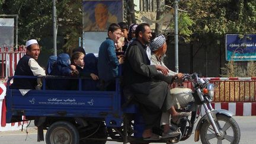
<svg viewBox="0 0 256 144">
<path fill-rule="evenodd" d="M 220 102 L 256 102 L 256 78 L 207 78 L 215 84 L 213 101 Z M 172 85 L 178 87 L 178 84 Z M 183 82 L 183 87 L 193 88 L 190 81 Z"/>
</svg>

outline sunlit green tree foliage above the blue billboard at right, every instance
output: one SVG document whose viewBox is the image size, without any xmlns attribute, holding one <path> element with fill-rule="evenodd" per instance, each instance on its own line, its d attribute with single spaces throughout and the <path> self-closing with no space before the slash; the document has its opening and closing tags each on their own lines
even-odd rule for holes
<svg viewBox="0 0 256 144">
<path fill-rule="evenodd" d="M 194 22 L 193 33 L 223 37 L 226 33 L 255 32 L 256 1 L 253 0 L 187 0 L 180 1 L 180 8 Z"/>
</svg>

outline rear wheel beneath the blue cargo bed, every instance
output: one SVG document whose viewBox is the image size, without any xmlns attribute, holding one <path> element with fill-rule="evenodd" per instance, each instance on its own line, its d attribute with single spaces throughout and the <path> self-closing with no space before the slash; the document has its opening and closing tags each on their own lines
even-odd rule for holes
<svg viewBox="0 0 256 144">
<path fill-rule="evenodd" d="M 68 121 L 53 123 L 46 132 L 46 144 L 79 144 L 79 133 Z"/>
</svg>

